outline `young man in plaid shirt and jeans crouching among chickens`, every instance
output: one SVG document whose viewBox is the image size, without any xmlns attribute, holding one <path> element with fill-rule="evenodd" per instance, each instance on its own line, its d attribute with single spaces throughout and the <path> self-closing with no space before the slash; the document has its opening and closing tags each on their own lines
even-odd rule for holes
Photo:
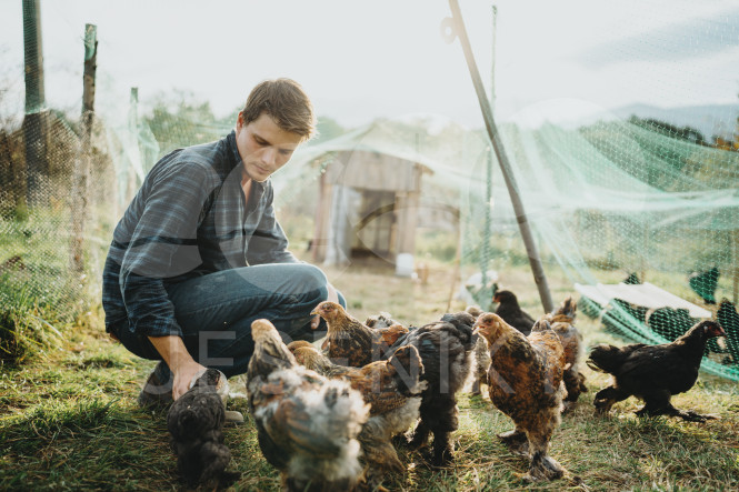
<svg viewBox="0 0 739 492">
<path fill-rule="evenodd" d="M 226 138 L 178 149 L 151 169 L 113 232 L 103 272 L 106 330 L 160 360 L 139 403 L 167 403 L 206 367 L 246 372 L 251 322 L 308 338 L 319 302 L 346 304 L 299 262 L 274 218 L 269 177 L 314 132 L 301 87 L 258 84 Z"/>
</svg>

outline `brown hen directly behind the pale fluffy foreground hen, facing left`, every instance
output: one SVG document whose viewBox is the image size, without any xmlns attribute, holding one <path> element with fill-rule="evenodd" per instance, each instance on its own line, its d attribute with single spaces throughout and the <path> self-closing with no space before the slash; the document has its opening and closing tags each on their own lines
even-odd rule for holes
<svg viewBox="0 0 739 492">
<path fill-rule="evenodd" d="M 385 472 L 402 473 L 405 466 L 391 443 L 397 434 L 406 432 L 417 420 L 421 404 L 420 393 L 426 383 L 418 350 L 405 345 L 387 361 L 371 362 L 363 368 L 347 368 L 331 362 L 318 349 L 304 342 L 288 344 L 298 363 L 327 378 L 341 379 L 359 391 L 371 405 L 370 419 L 358 439 L 369 464 L 368 483 L 375 488 Z"/>
</svg>

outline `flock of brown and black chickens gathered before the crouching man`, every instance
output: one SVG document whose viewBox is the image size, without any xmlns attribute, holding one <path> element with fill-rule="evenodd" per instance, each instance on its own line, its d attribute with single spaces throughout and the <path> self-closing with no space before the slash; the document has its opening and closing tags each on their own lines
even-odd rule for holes
<svg viewBox="0 0 739 492">
<path fill-rule="evenodd" d="M 406 470 L 396 446 L 421 450 L 431 438 L 431 464 L 449 464 L 457 395 L 470 376 L 473 392 L 487 386 L 492 403 L 511 418 L 515 428 L 499 438 L 529 458 L 522 478 L 568 475 L 549 455 L 549 443 L 562 412 L 588 391 L 578 367 L 577 304 L 568 298 L 533 320 L 510 291 L 497 292 L 493 301 L 495 313 L 469 307 L 423 327 L 405 327 L 388 313 L 362 323 L 326 301 L 313 311 L 328 325 L 320 349 L 286 344 L 270 321 L 254 321 L 249 410 L 283 490 L 381 490 L 388 473 Z M 723 334 L 718 323 L 703 321 L 669 344 L 593 348 L 588 365 L 613 375 L 612 385 L 596 394 L 596 412 L 636 395 L 645 401 L 639 415 L 710 418 L 679 411 L 670 398 L 693 385 L 707 340 Z M 180 473 L 191 484 L 234 480 L 224 471 L 230 453 L 213 378 L 209 370 L 168 414 Z"/>
</svg>

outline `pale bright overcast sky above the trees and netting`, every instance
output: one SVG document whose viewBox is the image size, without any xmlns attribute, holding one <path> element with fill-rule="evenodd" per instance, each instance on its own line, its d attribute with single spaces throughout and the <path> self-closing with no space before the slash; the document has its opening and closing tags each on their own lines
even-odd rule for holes
<svg viewBox="0 0 739 492">
<path fill-rule="evenodd" d="M 23 107 L 21 3 L 0 0 L 6 112 Z M 736 0 L 459 4 L 498 119 L 739 101 Z M 41 0 L 41 14 L 50 107 L 79 111 L 93 23 L 101 112 L 124 112 L 137 87 L 144 110 L 182 91 L 226 116 L 259 81 L 290 77 L 347 127 L 418 113 L 483 125 L 460 43 L 441 36 L 447 0 Z"/>
</svg>

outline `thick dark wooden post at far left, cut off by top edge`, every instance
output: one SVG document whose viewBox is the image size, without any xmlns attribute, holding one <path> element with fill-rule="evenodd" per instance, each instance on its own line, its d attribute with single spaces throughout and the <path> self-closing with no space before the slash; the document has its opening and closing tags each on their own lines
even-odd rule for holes
<svg viewBox="0 0 739 492">
<path fill-rule="evenodd" d="M 23 0 L 23 52 L 26 60 L 26 203 L 29 207 L 48 202 L 42 189 L 48 185 L 47 157 L 48 111 L 43 90 L 43 50 L 41 43 L 41 9 L 39 0 Z M 47 197 L 48 198 L 48 197 Z"/>
</svg>

